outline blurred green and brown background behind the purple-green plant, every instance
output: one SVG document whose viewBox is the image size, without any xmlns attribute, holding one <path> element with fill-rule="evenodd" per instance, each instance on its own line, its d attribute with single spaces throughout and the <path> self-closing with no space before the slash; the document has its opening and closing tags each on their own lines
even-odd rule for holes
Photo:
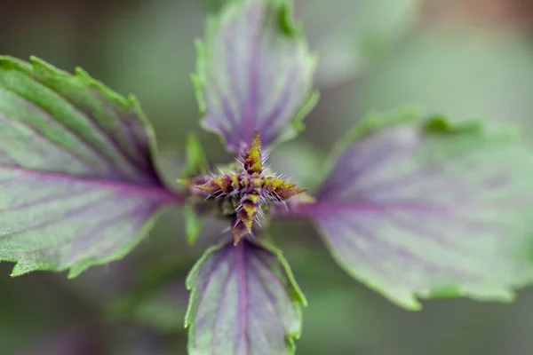
<svg viewBox="0 0 533 355">
<path fill-rule="evenodd" d="M 193 40 L 220 2 L 4 1 L 0 53 L 84 67 L 115 91 L 135 93 L 173 179 L 187 131 L 200 133 L 212 161 L 230 159 L 218 138 L 199 131 L 189 80 Z M 404 104 L 495 128 L 517 124 L 533 142 L 533 1 L 296 0 L 296 12 L 321 60 L 322 99 L 305 134 L 272 163 L 298 184 L 317 183 L 310 171 L 362 114 Z M 203 236 L 216 233 L 209 224 Z M 282 222 L 273 234 L 309 302 L 300 355 L 533 354 L 531 290 L 514 304 L 433 300 L 406 312 L 348 278 L 309 225 Z M 204 246 L 185 245 L 172 212 L 131 255 L 76 280 L 46 272 L 11 279 L 12 264 L 0 264 L 0 354 L 186 354 L 184 278 Z"/>
</svg>

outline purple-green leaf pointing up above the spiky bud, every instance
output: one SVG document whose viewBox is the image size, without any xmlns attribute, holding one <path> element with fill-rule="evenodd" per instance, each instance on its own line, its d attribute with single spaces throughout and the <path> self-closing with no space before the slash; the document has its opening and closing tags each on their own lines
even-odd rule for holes
<svg viewBox="0 0 533 355">
<path fill-rule="evenodd" d="M 238 152 L 294 138 L 318 99 L 315 59 L 284 0 L 233 0 L 208 20 L 193 75 L 202 125 Z"/>
</svg>

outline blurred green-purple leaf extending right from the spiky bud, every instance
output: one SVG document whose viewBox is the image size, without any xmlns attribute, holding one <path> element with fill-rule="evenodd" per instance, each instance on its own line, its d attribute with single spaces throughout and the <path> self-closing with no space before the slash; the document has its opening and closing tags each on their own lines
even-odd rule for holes
<svg viewBox="0 0 533 355">
<path fill-rule="evenodd" d="M 533 156 L 509 135 L 442 118 L 367 120 L 331 166 L 312 217 L 347 272 L 396 304 L 508 301 L 533 280 Z M 379 127 L 373 130 L 372 127 Z"/>
</svg>

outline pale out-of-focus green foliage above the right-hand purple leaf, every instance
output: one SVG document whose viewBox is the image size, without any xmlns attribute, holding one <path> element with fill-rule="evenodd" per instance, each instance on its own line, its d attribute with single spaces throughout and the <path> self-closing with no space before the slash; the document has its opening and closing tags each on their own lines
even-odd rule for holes
<svg viewBox="0 0 533 355">
<path fill-rule="evenodd" d="M 533 143 L 533 51 L 525 36 L 435 28 L 413 36 L 365 84 L 356 105 L 416 102 L 455 120 L 484 119 L 498 129 L 519 124 Z"/>
</svg>

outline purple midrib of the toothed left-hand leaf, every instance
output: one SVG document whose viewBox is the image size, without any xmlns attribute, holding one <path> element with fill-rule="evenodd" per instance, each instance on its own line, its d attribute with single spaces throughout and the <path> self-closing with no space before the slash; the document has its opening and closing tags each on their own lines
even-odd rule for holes
<svg viewBox="0 0 533 355">
<path fill-rule="evenodd" d="M 12 168 L 12 167 L 1 167 L 0 171 L 12 171 L 18 172 L 21 174 L 26 174 L 36 178 L 52 179 L 57 181 L 65 181 L 73 184 L 86 184 L 92 186 L 93 188 L 99 189 L 108 189 L 115 190 L 116 192 L 123 192 L 125 196 L 139 196 L 144 197 L 150 200 L 161 201 L 162 203 L 170 204 L 180 204 L 185 198 L 176 193 L 172 193 L 170 190 L 166 189 L 163 185 L 139 185 L 131 183 L 129 181 L 120 181 L 120 180 L 106 180 L 102 178 L 91 178 L 91 177 L 79 177 L 73 175 L 67 175 L 57 172 L 45 172 L 38 170 L 28 170 L 24 168 Z M 43 182 L 44 184 L 44 182 Z M 119 196 L 119 197 L 125 197 Z"/>
</svg>

